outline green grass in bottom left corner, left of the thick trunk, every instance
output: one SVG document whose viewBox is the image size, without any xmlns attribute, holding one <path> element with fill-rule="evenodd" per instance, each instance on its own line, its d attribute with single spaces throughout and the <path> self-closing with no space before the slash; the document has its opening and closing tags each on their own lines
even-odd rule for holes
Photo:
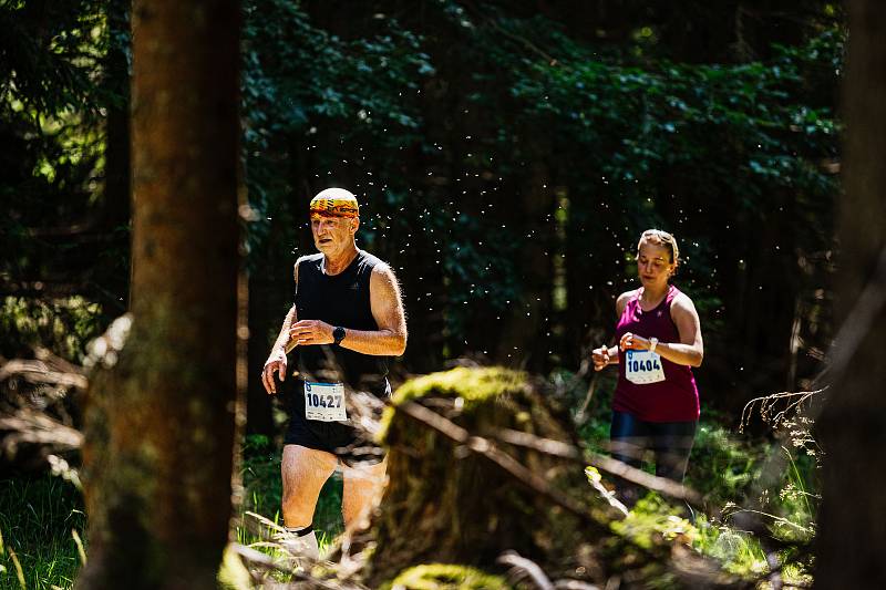
<svg viewBox="0 0 886 590">
<path fill-rule="evenodd" d="M 69 482 L 51 475 L 0 480 L 0 590 L 71 588 L 81 566 L 71 531 L 82 537 L 85 526 L 80 491 Z"/>
</svg>

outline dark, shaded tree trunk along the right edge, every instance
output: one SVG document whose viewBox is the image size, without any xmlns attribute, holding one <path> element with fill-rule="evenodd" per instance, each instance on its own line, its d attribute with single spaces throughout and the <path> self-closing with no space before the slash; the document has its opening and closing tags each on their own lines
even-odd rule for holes
<svg viewBox="0 0 886 590">
<path fill-rule="evenodd" d="M 846 174 L 839 216 L 843 272 L 834 362 L 817 429 L 825 449 L 824 500 L 816 535 L 817 588 L 883 588 L 886 567 L 886 3 L 853 0 L 845 81 Z M 879 262 L 878 262 L 879 259 Z M 879 270 L 877 266 L 879 263 Z M 863 293 L 867 293 L 863 297 Z M 870 296 L 870 297 L 868 297 Z M 854 313 L 866 312 L 858 322 Z M 843 371 L 839 371 L 843 369 Z"/>
</svg>

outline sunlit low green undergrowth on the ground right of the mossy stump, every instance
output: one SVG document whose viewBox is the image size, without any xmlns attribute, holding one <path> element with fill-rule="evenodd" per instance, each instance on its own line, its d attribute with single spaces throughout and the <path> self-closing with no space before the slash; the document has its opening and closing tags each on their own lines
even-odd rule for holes
<svg viewBox="0 0 886 590">
<path fill-rule="evenodd" d="M 583 429 L 588 446 L 600 448 L 608 441 L 608 422 L 590 421 Z M 763 470 L 772 455 L 785 460 L 786 469 L 761 487 Z M 786 544 L 779 550 L 789 579 L 803 580 L 810 573 L 803 547 L 815 535 L 820 496 L 815 457 L 803 449 L 794 454 L 767 441 L 752 442 L 713 422 L 702 422 L 696 436 L 686 484 L 704 497 L 704 511 L 691 518 L 686 506 L 673 506 L 655 493 L 647 495 L 629 516 L 612 529 L 641 547 L 661 540 L 678 540 L 715 558 L 727 571 L 739 576 L 769 570 L 760 538 L 743 530 L 739 517 L 759 519 L 767 534 Z"/>
</svg>

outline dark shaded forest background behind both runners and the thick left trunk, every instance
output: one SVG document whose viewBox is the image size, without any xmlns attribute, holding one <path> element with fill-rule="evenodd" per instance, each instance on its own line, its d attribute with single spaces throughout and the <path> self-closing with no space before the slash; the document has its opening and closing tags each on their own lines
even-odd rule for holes
<svg viewBox="0 0 886 590">
<path fill-rule="evenodd" d="M 647 4 L 245 2 L 253 432 L 272 427 L 253 377 L 328 186 L 358 194 L 360 246 L 402 282 L 402 371 L 577 370 L 637 236 L 661 227 L 701 314 L 703 406 L 808 385 L 830 332 L 841 8 Z M 126 309 L 128 17 L 0 10 L 6 358 L 39 339 L 76 360 Z"/>
</svg>

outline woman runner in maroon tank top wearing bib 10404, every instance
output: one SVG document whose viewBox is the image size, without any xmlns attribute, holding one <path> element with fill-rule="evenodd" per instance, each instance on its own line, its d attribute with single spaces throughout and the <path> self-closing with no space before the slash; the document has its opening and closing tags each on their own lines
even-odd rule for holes
<svg viewBox="0 0 886 590">
<path fill-rule="evenodd" d="M 637 245 L 640 288 L 616 301 L 617 346 L 591 353 L 594 369 L 618 364 L 612 400 L 612 456 L 639 467 L 650 451 L 656 475 L 682 482 L 699 420 L 692 375 L 704 346 L 692 300 L 670 283 L 680 261 L 677 240 L 649 229 Z M 636 501 L 625 490 L 626 500 Z"/>
</svg>

